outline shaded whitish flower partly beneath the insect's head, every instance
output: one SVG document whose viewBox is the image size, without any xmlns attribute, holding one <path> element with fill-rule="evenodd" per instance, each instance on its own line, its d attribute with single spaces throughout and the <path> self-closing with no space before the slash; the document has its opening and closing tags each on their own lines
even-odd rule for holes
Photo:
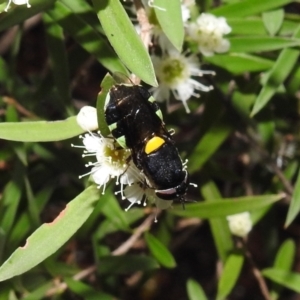
<svg viewBox="0 0 300 300">
<path fill-rule="evenodd" d="M 173 201 L 158 198 L 154 189 L 149 188 L 141 182 L 128 185 L 124 190 L 124 196 L 128 201 L 131 202 L 130 205 L 125 209 L 126 211 L 128 211 L 134 204 L 140 205 L 143 202 L 143 205 L 146 206 L 147 199 L 154 203 L 159 209 L 167 209 L 173 203 Z"/>
</svg>

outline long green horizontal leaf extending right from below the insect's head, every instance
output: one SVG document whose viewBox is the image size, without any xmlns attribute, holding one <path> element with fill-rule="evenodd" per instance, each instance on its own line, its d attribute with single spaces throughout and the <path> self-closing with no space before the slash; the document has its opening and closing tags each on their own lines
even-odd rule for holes
<svg viewBox="0 0 300 300">
<path fill-rule="evenodd" d="M 181 205 L 174 206 L 169 212 L 182 217 L 217 218 L 252 211 L 273 204 L 285 197 L 284 194 L 246 196 L 240 198 L 216 199 L 214 202 L 192 203 L 182 210 Z"/>
</svg>

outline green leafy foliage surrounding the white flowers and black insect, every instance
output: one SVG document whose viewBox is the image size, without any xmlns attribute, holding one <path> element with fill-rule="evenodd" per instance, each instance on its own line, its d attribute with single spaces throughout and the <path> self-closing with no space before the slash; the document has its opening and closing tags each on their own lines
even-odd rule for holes
<svg viewBox="0 0 300 300">
<path fill-rule="evenodd" d="M 170 6 L 157 18 L 181 49 L 180 3 L 169 1 L 155 2 Z M 70 146 L 82 133 L 74 116 L 99 107 L 108 71 L 157 85 L 127 4 L 30 4 L 0 14 L 0 300 L 300 293 L 299 3 L 197 1 L 200 12 L 227 19 L 231 48 L 203 57 L 214 90 L 189 101 L 191 115 L 162 106 L 198 188 L 185 210 L 175 203 L 158 222 L 151 207 L 125 212 L 113 186 L 102 195 L 80 180 L 85 161 Z M 243 211 L 254 223 L 247 239 L 233 237 L 226 220 Z"/>
</svg>

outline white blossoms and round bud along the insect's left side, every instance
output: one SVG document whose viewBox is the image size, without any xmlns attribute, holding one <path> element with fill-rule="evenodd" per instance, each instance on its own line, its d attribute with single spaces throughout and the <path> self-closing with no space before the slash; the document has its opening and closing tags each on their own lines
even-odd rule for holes
<svg viewBox="0 0 300 300">
<path fill-rule="evenodd" d="M 166 209 L 172 205 L 172 201 L 158 198 L 155 190 L 149 188 L 144 174 L 132 161 L 129 149 L 120 148 L 112 136 L 103 137 L 100 132 L 91 132 L 98 129 L 96 108 L 83 107 L 77 115 L 77 123 L 88 133 L 80 136 L 83 146 L 72 146 L 84 149 L 84 157 L 96 158 L 96 161 L 86 164 L 91 170 L 80 177 L 90 175 L 98 188 L 102 189 L 103 194 L 108 182 L 115 179 L 116 184 L 120 185 L 120 190 L 116 194 L 120 193 L 122 199 L 130 201 L 126 210 L 133 204 L 145 206 L 146 200 L 155 203 L 159 209 Z"/>
</svg>

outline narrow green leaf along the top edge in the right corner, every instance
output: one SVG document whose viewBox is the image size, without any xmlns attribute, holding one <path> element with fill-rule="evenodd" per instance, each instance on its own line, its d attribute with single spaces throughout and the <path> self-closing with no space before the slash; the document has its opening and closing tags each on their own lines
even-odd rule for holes
<svg viewBox="0 0 300 300">
<path fill-rule="evenodd" d="M 281 7 L 288 3 L 294 2 L 293 0 L 244 0 L 238 3 L 228 5 L 221 5 L 209 11 L 216 16 L 229 17 L 247 17 L 264 11 L 272 10 Z"/>
</svg>

